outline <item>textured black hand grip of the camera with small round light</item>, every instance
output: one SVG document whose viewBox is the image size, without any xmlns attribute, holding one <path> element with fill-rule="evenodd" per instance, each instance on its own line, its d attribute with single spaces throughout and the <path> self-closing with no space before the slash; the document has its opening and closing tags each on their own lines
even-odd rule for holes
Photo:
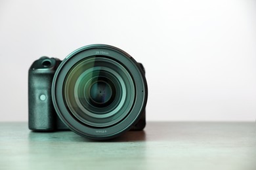
<svg viewBox="0 0 256 170">
<path fill-rule="evenodd" d="M 56 128 L 56 113 L 51 97 L 53 75 L 40 70 L 29 71 L 28 121 L 33 131 L 53 131 Z"/>
</svg>

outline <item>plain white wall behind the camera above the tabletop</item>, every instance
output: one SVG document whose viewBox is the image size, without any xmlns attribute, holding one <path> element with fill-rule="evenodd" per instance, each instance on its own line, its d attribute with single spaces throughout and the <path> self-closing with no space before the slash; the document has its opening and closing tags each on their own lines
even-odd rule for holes
<svg viewBox="0 0 256 170">
<path fill-rule="evenodd" d="M 28 68 L 88 44 L 146 67 L 147 120 L 255 121 L 256 3 L 0 0 L 0 121 L 28 121 Z"/>
</svg>

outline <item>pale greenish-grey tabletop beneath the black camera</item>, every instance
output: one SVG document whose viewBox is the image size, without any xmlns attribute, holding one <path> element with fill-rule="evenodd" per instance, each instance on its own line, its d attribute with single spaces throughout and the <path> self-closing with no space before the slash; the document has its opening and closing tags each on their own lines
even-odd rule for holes
<svg viewBox="0 0 256 170">
<path fill-rule="evenodd" d="M 148 122 L 111 141 L 0 122 L 0 169 L 256 169 L 255 122 Z"/>
</svg>

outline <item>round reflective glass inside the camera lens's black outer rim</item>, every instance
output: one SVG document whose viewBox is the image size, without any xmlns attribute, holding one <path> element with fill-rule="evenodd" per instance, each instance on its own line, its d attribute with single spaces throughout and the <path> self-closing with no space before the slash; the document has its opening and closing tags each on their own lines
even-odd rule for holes
<svg viewBox="0 0 256 170">
<path fill-rule="evenodd" d="M 135 102 L 133 78 L 123 65 L 104 56 L 75 63 L 63 89 L 66 107 L 80 122 L 107 127 L 121 121 Z"/>
</svg>

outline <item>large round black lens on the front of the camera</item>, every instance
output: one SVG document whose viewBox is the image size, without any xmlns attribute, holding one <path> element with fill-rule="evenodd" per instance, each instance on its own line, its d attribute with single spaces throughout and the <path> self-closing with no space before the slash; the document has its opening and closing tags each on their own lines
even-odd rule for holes
<svg viewBox="0 0 256 170">
<path fill-rule="evenodd" d="M 75 50 L 60 63 L 52 95 L 58 116 L 75 133 L 109 139 L 140 119 L 147 86 L 142 69 L 129 54 L 96 44 Z"/>
</svg>

